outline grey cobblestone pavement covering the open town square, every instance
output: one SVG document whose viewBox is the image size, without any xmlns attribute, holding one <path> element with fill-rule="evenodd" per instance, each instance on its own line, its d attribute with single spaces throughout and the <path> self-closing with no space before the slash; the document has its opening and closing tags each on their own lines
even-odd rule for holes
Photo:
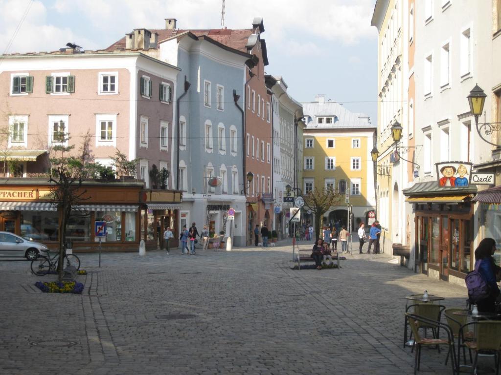
<svg viewBox="0 0 501 375">
<path fill-rule="evenodd" d="M 0 373 L 413 373 L 404 296 L 427 289 L 446 306 L 466 297 L 389 254 L 321 271 L 290 269 L 290 245 L 103 253 L 101 268 L 98 254 L 79 256 L 82 295 L 42 293 L 34 283 L 55 276 L 0 261 Z M 423 349 L 420 373 L 451 373 L 445 353 Z"/>
</svg>

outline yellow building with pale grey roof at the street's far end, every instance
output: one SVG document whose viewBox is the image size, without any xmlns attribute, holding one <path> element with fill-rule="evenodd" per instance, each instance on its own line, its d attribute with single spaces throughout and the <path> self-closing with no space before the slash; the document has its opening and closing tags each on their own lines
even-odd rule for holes
<svg viewBox="0 0 501 375">
<path fill-rule="evenodd" d="M 353 113 L 343 105 L 325 101 L 318 95 L 314 102 L 303 104 L 306 128 L 303 133 L 303 186 L 308 191 L 332 188 L 346 194 L 352 206 L 354 229 L 359 222 L 368 222 L 374 210 L 374 163 L 370 151 L 374 146 L 376 126 L 369 117 Z M 306 213 L 304 220 L 314 223 Z M 348 223 L 348 204 L 345 199 L 324 214 L 324 222 L 340 220 Z"/>
</svg>

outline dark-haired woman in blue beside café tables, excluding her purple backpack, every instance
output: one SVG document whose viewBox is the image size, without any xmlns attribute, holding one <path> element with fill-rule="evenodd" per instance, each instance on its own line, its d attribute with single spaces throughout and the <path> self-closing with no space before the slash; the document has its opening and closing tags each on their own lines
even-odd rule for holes
<svg viewBox="0 0 501 375">
<path fill-rule="evenodd" d="M 494 263 L 492 255 L 496 250 L 496 241 L 493 238 L 484 238 L 475 249 L 475 270 L 480 273 L 490 290 L 487 296 L 476 302 L 479 312 L 495 312 L 495 301 L 499 295 L 496 282 L 496 273 L 499 267 Z"/>
</svg>

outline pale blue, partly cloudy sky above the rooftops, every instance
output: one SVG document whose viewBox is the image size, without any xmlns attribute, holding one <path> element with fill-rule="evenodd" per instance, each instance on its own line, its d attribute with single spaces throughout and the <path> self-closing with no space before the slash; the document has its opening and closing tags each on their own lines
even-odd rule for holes
<svg viewBox="0 0 501 375">
<path fill-rule="evenodd" d="M 263 17 L 270 64 L 298 101 L 342 102 L 376 123 L 375 0 L 225 0 L 224 25 L 250 28 Z M 221 27 L 222 0 L 0 0 L 0 53 L 50 51 L 74 42 L 111 45 L 134 28 Z M 0 65 L 1 69 L 1 65 Z"/>
</svg>

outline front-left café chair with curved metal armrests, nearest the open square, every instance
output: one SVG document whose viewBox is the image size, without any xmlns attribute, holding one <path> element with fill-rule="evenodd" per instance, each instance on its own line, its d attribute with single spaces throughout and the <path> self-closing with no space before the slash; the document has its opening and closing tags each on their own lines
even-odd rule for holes
<svg viewBox="0 0 501 375">
<path fill-rule="evenodd" d="M 405 318 L 409 321 L 409 325 L 411 327 L 412 333 L 414 334 L 414 346 L 416 347 L 416 353 L 415 353 L 415 358 L 414 358 L 414 375 L 416 375 L 417 371 L 419 370 L 419 366 L 421 363 L 421 347 L 422 346 L 440 346 L 440 345 L 447 345 L 449 348 L 447 350 L 447 357 L 445 358 L 445 365 L 447 365 L 447 361 L 449 359 L 449 356 L 451 356 L 451 366 L 452 366 L 452 373 L 456 373 L 456 352 L 454 349 L 454 335 L 452 334 L 451 328 L 440 321 L 434 321 L 427 319 L 425 317 L 411 314 L 409 312 L 405 313 Z M 419 326 L 433 326 L 436 331 L 438 331 L 439 328 L 442 328 L 447 333 L 447 338 L 428 338 L 428 337 L 421 337 L 421 334 L 419 332 Z"/>
</svg>

